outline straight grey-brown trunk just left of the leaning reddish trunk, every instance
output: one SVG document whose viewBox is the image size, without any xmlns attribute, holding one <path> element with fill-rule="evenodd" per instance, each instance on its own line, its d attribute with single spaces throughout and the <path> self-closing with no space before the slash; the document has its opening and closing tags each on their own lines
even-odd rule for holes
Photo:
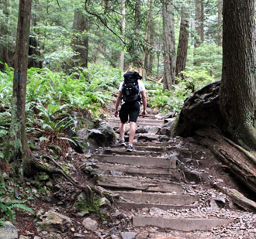
<svg viewBox="0 0 256 239">
<path fill-rule="evenodd" d="M 164 90 L 171 90 L 175 81 L 175 20 L 173 12 L 173 2 L 163 0 Z"/>
</svg>

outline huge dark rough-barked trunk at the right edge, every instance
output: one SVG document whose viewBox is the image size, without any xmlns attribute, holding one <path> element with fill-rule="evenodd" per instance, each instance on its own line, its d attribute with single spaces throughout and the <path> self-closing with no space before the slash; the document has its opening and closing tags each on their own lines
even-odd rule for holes
<svg viewBox="0 0 256 239">
<path fill-rule="evenodd" d="M 254 1 L 223 1 L 223 72 L 220 111 L 227 132 L 256 149 Z"/>
</svg>

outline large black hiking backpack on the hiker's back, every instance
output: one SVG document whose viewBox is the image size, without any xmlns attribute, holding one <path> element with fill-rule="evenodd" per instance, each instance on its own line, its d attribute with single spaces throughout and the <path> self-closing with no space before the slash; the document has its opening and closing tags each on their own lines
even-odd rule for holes
<svg viewBox="0 0 256 239">
<path fill-rule="evenodd" d="M 140 101 L 140 87 L 138 80 L 142 77 L 140 77 L 137 72 L 127 72 L 123 77 L 123 101 L 130 103 Z"/>
</svg>

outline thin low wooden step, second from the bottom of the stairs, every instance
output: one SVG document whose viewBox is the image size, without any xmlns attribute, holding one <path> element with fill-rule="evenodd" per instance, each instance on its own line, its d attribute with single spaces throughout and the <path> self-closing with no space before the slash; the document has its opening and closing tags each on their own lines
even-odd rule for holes
<svg viewBox="0 0 256 239">
<path fill-rule="evenodd" d="M 126 210 L 142 210 L 143 208 L 153 208 L 157 207 L 161 210 L 182 210 L 184 208 L 194 208 L 196 205 L 171 205 L 171 204 L 159 204 L 159 203 L 133 203 L 133 202 L 123 202 L 123 201 L 116 201 L 116 205 L 119 207 L 123 207 Z"/>
</svg>

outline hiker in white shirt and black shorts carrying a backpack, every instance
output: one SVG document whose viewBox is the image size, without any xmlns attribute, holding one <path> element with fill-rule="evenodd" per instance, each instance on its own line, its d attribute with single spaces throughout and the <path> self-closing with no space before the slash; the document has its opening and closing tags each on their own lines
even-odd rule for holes
<svg viewBox="0 0 256 239">
<path fill-rule="evenodd" d="M 127 146 L 127 151 L 135 150 L 133 147 L 133 138 L 135 136 L 137 127 L 137 118 L 140 114 L 140 95 L 143 101 L 144 111 L 142 111 L 142 116 L 145 117 L 147 109 L 147 97 L 146 89 L 142 77 L 137 72 L 127 72 L 123 75 L 124 80 L 119 86 L 119 92 L 116 99 L 115 117 L 118 115 L 118 107 L 120 101 L 122 101 L 122 106 L 119 111 L 119 145 L 126 146 L 124 140 L 125 133 L 125 123 L 130 122 L 130 133 L 129 133 L 129 145 Z"/>
</svg>

